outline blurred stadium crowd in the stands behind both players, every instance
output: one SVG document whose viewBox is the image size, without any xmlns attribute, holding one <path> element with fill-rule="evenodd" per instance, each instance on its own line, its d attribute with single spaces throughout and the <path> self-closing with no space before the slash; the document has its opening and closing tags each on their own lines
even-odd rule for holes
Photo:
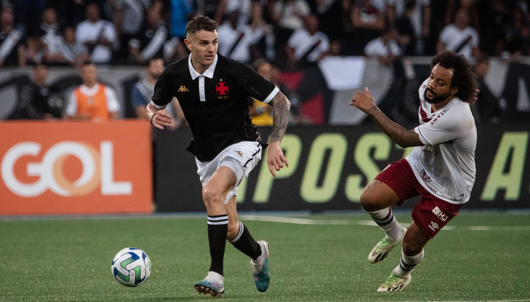
<svg viewBox="0 0 530 302">
<path fill-rule="evenodd" d="M 387 98 L 392 104 L 382 108 L 402 121 L 403 117 L 417 120 L 410 113 L 417 108 L 403 108 L 406 105 L 401 103 L 409 80 L 403 58 L 453 50 L 476 64 L 482 92 L 475 117 L 479 122 L 497 122 L 508 116 L 507 110 L 517 109 L 489 92 L 483 80 L 488 57 L 513 64 L 530 49 L 528 0 L 3 0 L 1 4 L 0 66 L 37 66 L 27 88 L 32 93 L 23 94 L 30 99 L 41 94 L 49 66 L 72 65 L 83 78 L 86 62 L 155 70 L 153 64 L 160 67 L 183 58 L 189 54 L 183 42 L 185 25 L 201 14 L 219 23 L 219 54 L 261 69 L 277 85 L 281 70 L 312 68 L 328 55 L 377 59 L 393 69 L 391 91 L 397 92 Z M 140 95 L 148 99 L 154 81 L 154 75 L 147 75 L 134 86 L 133 106 L 143 105 Z M 285 85 L 282 91 L 293 102 L 293 123 L 311 123 L 297 110 L 304 97 L 298 98 Z M 30 99 L 18 106 L 37 102 Z M 45 107 L 19 110 L 11 118 L 60 117 Z M 329 115 L 329 109 L 322 110 Z M 251 106 L 251 114 L 261 116 L 255 120 L 263 126 L 270 123 L 270 111 L 260 104 Z M 178 112 L 177 106 L 174 114 Z"/>
</svg>

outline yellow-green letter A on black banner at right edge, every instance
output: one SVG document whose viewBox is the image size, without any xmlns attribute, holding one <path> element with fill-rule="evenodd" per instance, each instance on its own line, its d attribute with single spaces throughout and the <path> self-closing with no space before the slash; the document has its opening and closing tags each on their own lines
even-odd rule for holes
<svg viewBox="0 0 530 302">
<path fill-rule="evenodd" d="M 504 200 L 519 199 L 525 166 L 528 132 L 504 132 L 482 191 L 481 200 L 494 200 L 498 190 L 505 189 Z M 508 157 L 511 151 L 511 161 Z M 504 172 L 509 166 L 509 171 Z"/>
</svg>

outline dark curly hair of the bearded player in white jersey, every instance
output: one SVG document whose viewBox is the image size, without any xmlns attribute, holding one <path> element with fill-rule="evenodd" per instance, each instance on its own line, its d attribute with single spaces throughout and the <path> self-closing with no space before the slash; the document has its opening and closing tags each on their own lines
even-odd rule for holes
<svg viewBox="0 0 530 302">
<path fill-rule="evenodd" d="M 437 64 L 446 69 L 453 69 L 451 88 L 457 87 L 458 96 L 462 101 L 473 104 L 476 94 L 475 73 L 467 59 L 456 54 L 454 51 L 444 51 L 434 56 L 431 61 L 431 69 Z"/>
</svg>

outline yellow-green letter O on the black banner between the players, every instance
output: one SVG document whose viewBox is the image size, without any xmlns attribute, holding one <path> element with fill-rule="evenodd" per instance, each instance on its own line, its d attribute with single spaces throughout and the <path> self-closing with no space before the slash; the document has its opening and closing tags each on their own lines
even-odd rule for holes
<svg viewBox="0 0 530 302">
<path fill-rule="evenodd" d="M 348 141 L 342 134 L 324 133 L 315 138 L 300 187 L 300 195 L 305 201 L 328 202 L 335 196 L 347 149 Z M 331 150 L 331 154 L 324 171 L 322 165 L 326 150 Z M 320 173 L 324 173 L 324 180 L 318 186 Z"/>
</svg>

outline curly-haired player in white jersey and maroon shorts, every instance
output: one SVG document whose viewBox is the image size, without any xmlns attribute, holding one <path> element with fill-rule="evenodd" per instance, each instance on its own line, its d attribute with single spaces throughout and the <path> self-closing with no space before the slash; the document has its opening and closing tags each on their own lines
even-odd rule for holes
<svg viewBox="0 0 530 302">
<path fill-rule="evenodd" d="M 476 101 L 473 72 L 467 60 L 452 51 L 432 58 L 431 74 L 419 89 L 420 126 L 407 130 L 388 119 L 365 89 L 350 105 L 370 116 L 376 125 L 412 153 L 388 165 L 366 186 L 360 198 L 363 210 L 386 236 L 368 255 L 370 263 L 386 258 L 403 243 L 401 260 L 377 291 L 402 290 L 410 273 L 423 259 L 423 247 L 470 197 L 475 182 L 476 127 L 469 103 Z M 412 210 L 409 229 L 398 224 L 391 206 L 421 196 Z"/>
</svg>

